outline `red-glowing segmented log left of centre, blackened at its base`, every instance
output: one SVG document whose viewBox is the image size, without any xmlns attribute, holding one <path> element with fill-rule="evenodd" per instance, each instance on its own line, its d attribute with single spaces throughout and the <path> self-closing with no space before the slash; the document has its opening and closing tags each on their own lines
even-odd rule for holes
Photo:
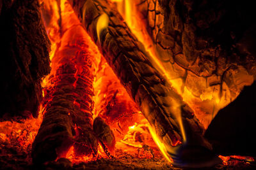
<svg viewBox="0 0 256 170">
<path fill-rule="evenodd" d="M 52 59 L 44 120 L 33 143 L 36 163 L 65 157 L 72 145 L 78 156 L 97 154 L 92 126 L 95 52 L 88 43 L 90 39 L 81 25 L 70 27 L 61 38 Z"/>
</svg>

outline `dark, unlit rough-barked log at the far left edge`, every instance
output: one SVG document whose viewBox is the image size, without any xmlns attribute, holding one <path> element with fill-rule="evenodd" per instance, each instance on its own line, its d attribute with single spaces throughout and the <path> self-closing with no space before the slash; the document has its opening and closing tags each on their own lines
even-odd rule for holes
<svg viewBox="0 0 256 170">
<path fill-rule="evenodd" d="M 1 1 L 0 24 L 0 118 L 37 117 L 41 81 L 50 72 L 50 42 L 38 1 Z"/>
</svg>

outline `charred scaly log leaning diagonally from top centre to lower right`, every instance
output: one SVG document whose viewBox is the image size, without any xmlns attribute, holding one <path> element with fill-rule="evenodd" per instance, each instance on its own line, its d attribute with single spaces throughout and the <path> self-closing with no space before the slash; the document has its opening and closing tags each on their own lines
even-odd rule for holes
<svg viewBox="0 0 256 170">
<path fill-rule="evenodd" d="M 107 1 L 70 0 L 70 4 L 175 162 L 181 165 L 180 160 L 191 161 L 185 158 L 189 146 L 211 150 L 211 145 L 202 136 L 204 127 L 182 97 L 148 62 L 143 45 L 132 35 L 115 7 Z M 104 15 L 109 17 L 106 17 L 108 25 L 100 25 L 106 23 L 102 20 Z M 201 154 L 199 159 L 205 157 L 198 150 L 189 152 Z"/>
</svg>

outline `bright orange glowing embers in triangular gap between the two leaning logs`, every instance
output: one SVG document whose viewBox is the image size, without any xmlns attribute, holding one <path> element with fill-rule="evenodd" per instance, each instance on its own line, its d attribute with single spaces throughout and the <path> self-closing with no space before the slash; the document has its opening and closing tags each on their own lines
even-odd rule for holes
<svg viewBox="0 0 256 170">
<path fill-rule="evenodd" d="M 104 118 L 115 134 L 116 149 L 127 153 L 137 153 L 146 145 L 154 148 L 155 145 L 148 131 L 148 122 L 141 111 L 132 101 L 115 73 L 104 58 L 101 59 L 95 83 L 95 110 L 93 117 Z M 150 157 L 151 153 L 140 152 L 140 157 Z M 142 155 L 141 155 L 142 154 Z"/>
</svg>

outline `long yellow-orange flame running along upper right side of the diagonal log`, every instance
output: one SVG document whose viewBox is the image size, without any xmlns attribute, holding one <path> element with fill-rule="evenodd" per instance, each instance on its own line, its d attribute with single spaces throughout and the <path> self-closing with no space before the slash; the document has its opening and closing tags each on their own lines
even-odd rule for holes
<svg viewBox="0 0 256 170">
<path fill-rule="evenodd" d="M 189 104 L 189 106 L 195 111 L 196 117 L 200 120 L 200 122 L 204 125 L 205 129 L 211 123 L 212 118 L 218 113 L 218 111 L 227 106 L 231 100 L 234 100 L 235 97 L 231 97 L 230 90 L 228 89 L 225 82 L 221 86 L 216 87 L 204 87 L 202 94 L 200 96 L 195 96 L 193 94 L 193 89 L 188 89 L 184 85 L 184 81 L 181 78 L 178 78 L 179 75 L 172 71 L 172 67 L 175 64 L 170 64 L 167 62 L 162 62 L 161 54 L 158 52 L 156 48 L 156 43 L 152 41 L 152 38 L 148 34 L 147 27 L 145 27 L 145 22 L 143 21 L 143 17 L 141 17 L 140 12 L 136 8 L 139 6 L 138 1 L 134 0 L 122 0 L 115 1 L 112 0 L 113 3 L 118 7 L 118 11 L 124 18 L 125 22 L 131 29 L 132 33 L 138 38 L 138 40 L 143 43 L 145 46 L 145 50 L 148 52 L 148 59 L 153 64 L 153 66 L 161 73 L 165 80 L 175 89 L 178 94 L 180 94 L 183 100 Z M 140 2 L 139 2 L 140 3 Z M 156 1 L 156 6 L 159 5 Z M 179 69 L 183 69 L 180 66 Z M 185 70 L 185 69 L 184 69 Z M 193 75 L 193 74 L 192 74 Z M 196 76 L 196 75 L 194 75 Z M 200 85 L 198 85 L 200 87 Z M 196 88 L 196 85 L 195 85 Z M 222 90 L 221 90 L 222 88 Z M 223 94 L 221 93 L 223 91 Z M 236 94 L 236 96 L 239 93 Z M 207 103 L 207 106 L 202 106 Z M 207 110 L 203 108 L 209 108 Z M 211 108 L 211 109 L 210 109 Z M 210 114 L 209 114 L 210 113 Z M 179 118 L 179 114 L 177 113 L 177 118 Z M 186 135 L 183 130 L 182 122 L 179 120 L 180 129 L 182 131 L 183 140 L 186 141 Z"/>
</svg>

